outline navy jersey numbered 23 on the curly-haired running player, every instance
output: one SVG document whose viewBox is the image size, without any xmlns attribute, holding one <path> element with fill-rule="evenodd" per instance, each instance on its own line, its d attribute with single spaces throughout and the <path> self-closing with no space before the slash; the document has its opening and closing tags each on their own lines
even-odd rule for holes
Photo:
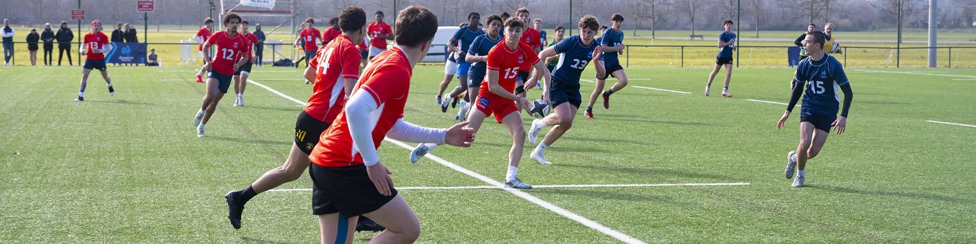
<svg viewBox="0 0 976 244">
<path fill-rule="evenodd" d="M 559 54 L 559 63 L 552 71 L 554 85 L 579 89 L 580 74 L 593 60 L 593 51 L 599 45 L 595 40 L 590 41 L 589 46 L 583 45 L 583 38 L 580 38 L 580 35 L 573 35 L 556 43 L 554 48 L 555 53 Z"/>
</svg>

